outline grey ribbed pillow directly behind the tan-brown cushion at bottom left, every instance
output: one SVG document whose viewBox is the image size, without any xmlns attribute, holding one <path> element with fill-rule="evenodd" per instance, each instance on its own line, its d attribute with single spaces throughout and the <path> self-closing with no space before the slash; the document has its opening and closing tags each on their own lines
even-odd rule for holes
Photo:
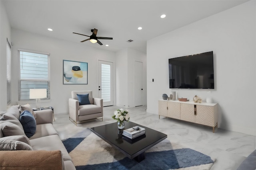
<svg viewBox="0 0 256 170">
<path fill-rule="evenodd" d="M 14 140 L 0 139 L 0 150 L 33 150 L 30 145 Z"/>
</svg>

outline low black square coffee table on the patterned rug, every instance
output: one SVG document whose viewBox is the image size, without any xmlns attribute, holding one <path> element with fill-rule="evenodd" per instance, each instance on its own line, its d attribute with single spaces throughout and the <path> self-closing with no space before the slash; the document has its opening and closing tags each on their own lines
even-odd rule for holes
<svg viewBox="0 0 256 170">
<path fill-rule="evenodd" d="M 136 139 L 128 139 L 122 136 L 122 131 L 118 130 L 117 123 L 92 127 L 91 131 L 98 137 L 109 143 L 112 147 L 120 150 L 128 158 L 135 159 L 138 162 L 145 159 L 145 151 L 163 141 L 167 135 L 148 127 L 138 125 L 133 122 L 125 122 L 124 129 L 134 126 L 140 126 L 146 129 L 146 135 L 142 135 Z"/>
</svg>

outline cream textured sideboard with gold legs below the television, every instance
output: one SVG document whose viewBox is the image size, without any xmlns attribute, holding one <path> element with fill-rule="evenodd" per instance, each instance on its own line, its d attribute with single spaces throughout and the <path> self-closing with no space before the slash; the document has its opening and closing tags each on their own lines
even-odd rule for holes
<svg viewBox="0 0 256 170">
<path fill-rule="evenodd" d="M 218 127 L 218 104 L 158 100 L 158 115 L 180 119 L 214 128 Z"/>
</svg>

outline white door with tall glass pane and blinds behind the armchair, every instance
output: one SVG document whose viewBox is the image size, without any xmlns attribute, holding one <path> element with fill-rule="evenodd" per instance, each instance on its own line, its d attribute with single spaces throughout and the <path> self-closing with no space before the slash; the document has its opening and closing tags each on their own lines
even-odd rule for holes
<svg viewBox="0 0 256 170">
<path fill-rule="evenodd" d="M 113 101 L 113 63 L 98 61 L 98 96 L 103 106 L 112 106 Z"/>
</svg>

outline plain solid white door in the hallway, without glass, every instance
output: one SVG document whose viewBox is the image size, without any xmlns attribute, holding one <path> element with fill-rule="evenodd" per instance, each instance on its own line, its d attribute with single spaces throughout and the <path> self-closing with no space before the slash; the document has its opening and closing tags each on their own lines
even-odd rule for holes
<svg viewBox="0 0 256 170">
<path fill-rule="evenodd" d="M 134 65 L 134 105 L 143 105 L 143 63 L 139 61 Z"/>
</svg>

